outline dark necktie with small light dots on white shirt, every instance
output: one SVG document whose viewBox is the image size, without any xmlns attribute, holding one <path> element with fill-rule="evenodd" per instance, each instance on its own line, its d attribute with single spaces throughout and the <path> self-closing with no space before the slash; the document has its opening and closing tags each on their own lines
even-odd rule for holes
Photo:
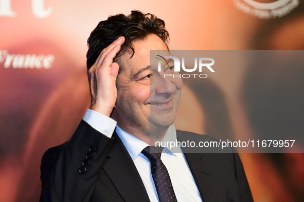
<svg viewBox="0 0 304 202">
<path fill-rule="evenodd" d="M 150 152 L 151 150 L 151 152 Z M 162 147 L 148 146 L 141 151 L 151 162 L 151 174 L 160 202 L 177 201 L 166 166 L 160 160 Z"/>
</svg>

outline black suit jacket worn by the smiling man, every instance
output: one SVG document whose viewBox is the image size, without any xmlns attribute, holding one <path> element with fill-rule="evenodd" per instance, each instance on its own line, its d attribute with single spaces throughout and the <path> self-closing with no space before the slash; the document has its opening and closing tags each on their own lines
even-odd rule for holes
<svg viewBox="0 0 304 202">
<path fill-rule="evenodd" d="M 197 134 L 177 131 L 179 141 L 191 140 L 193 136 Z M 213 140 L 209 136 L 201 137 Z M 253 201 L 237 153 L 184 155 L 204 202 Z M 90 157 L 90 164 L 84 170 L 82 163 Z M 116 132 L 108 138 L 83 120 L 68 142 L 45 152 L 41 181 L 40 201 L 150 201 Z"/>
</svg>

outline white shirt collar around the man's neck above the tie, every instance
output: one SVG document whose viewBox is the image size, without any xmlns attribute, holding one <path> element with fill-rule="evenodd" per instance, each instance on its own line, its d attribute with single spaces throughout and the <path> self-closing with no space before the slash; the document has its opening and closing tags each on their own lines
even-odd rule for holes
<svg viewBox="0 0 304 202">
<path fill-rule="evenodd" d="M 147 143 L 142 141 L 141 139 L 138 139 L 137 137 L 134 137 L 133 135 L 127 133 L 126 131 L 122 130 L 119 126 L 116 125 L 115 132 L 121 139 L 124 147 L 128 150 L 132 160 L 135 160 L 135 158 L 140 154 L 140 152 L 149 146 Z M 172 124 L 169 126 L 166 136 L 164 137 L 162 142 L 170 142 L 176 141 L 176 130 L 174 125 Z M 173 149 L 173 148 L 172 148 Z M 172 153 L 172 149 L 170 148 L 164 148 L 163 152 L 166 153 Z M 174 153 L 172 153 L 175 155 Z"/>
</svg>

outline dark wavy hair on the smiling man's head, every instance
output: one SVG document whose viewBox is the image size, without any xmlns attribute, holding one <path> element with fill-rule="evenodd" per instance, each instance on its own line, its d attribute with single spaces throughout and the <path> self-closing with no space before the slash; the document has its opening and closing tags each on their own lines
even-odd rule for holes
<svg viewBox="0 0 304 202">
<path fill-rule="evenodd" d="M 121 46 L 121 50 L 114 58 L 121 56 L 128 49 L 131 49 L 134 55 L 132 42 L 145 39 L 149 34 L 159 36 L 167 45 L 169 42 L 169 33 L 165 29 L 165 22 L 155 15 L 144 14 L 137 10 L 132 10 L 130 15 L 117 14 L 111 15 L 105 21 L 101 21 L 91 32 L 87 39 L 88 50 L 86 53 L 86 67 L 90 69 L 100 52 L 112 44 L 119 36 L 124 36 L 126 41 Z M 131 57 L 132 57 L 131 56 Z"/>
</svg>

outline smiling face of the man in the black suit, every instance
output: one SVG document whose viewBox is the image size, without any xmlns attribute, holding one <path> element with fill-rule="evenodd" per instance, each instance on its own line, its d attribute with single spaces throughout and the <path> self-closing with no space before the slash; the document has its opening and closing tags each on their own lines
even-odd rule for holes
<svg viewBox="0 0 304 202">
<path fill-rule="evenodd" d="M 134 42 L 133 47 L 133 57 L 132 52 L 127 52 L 119 58 L 123 71 L 117 77 L 113 117 L 119 127 L 138 137 L 149 135 L 150 128 L 167 129 L 173 124 L 181 98 L 182 79 L 164 78 L 164 73 L 174 73 L 173 64 L 158 72 L 155 59 L 150 67 L 150 50 L 165 50 L 166 55 L 170 55 L 158 36 L 150 34 L 146 39 Z"/>
</svg>

